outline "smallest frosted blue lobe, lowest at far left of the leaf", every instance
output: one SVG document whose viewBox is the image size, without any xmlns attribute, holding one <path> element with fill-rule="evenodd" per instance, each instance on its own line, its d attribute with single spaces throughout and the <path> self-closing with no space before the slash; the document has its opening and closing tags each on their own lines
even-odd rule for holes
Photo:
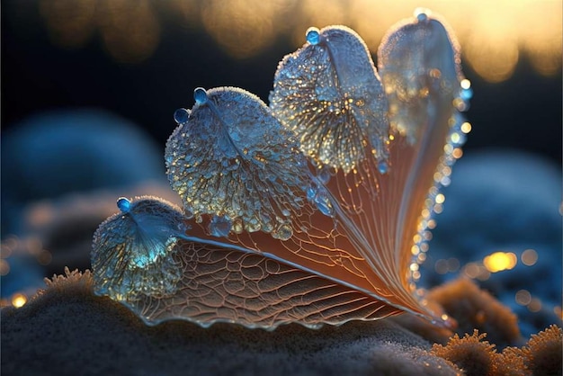
<svg viewBox="0 0 563 376">
<path fill-rule="evenodd" d="M 183 234 L 182 212 L 168 202 L 121 198 L 120 213 L 106 219 L 94 234 L 92 268 L 95 289 L 113 299 L 172 294 L 182 270 L 170 255 Z"/>
</svg>

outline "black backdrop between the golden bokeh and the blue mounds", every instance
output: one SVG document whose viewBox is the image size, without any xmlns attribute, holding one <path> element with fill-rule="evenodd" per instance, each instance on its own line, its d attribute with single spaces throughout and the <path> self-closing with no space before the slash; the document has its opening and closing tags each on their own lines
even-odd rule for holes
<svg viewBox="0 0 563 376">
<path fill-rule="evenodd" d="M 201 27 L 154 8 L 165 20 L 160 42 L 150 57 L 128 64 L 107 53 L 96 31 L 79 49 L 54 45 L 37 1 L 2 1 L 3 130 L 47 110 L 103 108 L 139 124 L 164 149 L 174 110 L 192 107 L 196 86 L 239 86 L 267 102 L 278 62 L 295 49 L 290 40 L 279 37 L 253 58 L 235 59 Z M 464 71 L 474 90 L 465 153 L 519 148 L 561 164 L 560 72 L 541 76 L 525 56 L 502 83 L 487 83 L 467 65 Z"/>
</svg>

